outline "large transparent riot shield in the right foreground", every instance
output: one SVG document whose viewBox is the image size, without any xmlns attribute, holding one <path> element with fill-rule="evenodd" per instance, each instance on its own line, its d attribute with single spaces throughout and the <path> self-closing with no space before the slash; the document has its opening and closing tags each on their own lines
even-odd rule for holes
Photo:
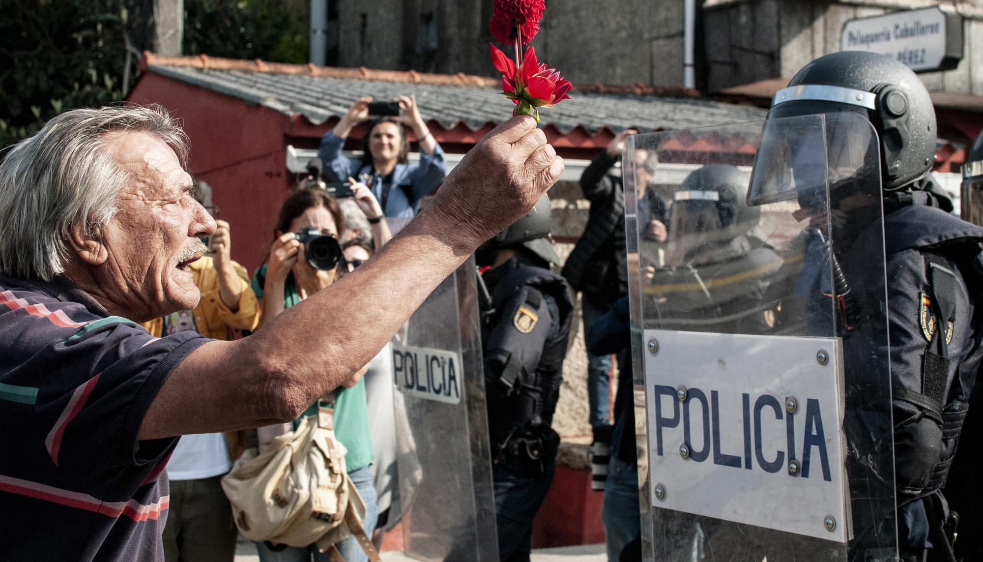
<svg viewBox="0 0 983 562">
<path fill-rule="evenodd" d="M 873 128 L 639 135 L 624 166 L 644 559 L 895 560 Z"/>
</svg>

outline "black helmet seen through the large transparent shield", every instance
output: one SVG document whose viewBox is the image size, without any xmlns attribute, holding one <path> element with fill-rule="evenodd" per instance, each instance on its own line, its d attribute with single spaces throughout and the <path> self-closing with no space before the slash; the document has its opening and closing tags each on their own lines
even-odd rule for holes
<svg viewBox="0 0 983 562">
<path fill-rule="evenodd" d="M 725 164 L 710 164 L 690 173 L 672 194 L 670 236 L 695 227 L 733 238 L 758 226 L 761 207 L 747 204 L 748 180 L 747 173 Z M 704 224 L 693 224 L 694 220 Z"/>
</svg>

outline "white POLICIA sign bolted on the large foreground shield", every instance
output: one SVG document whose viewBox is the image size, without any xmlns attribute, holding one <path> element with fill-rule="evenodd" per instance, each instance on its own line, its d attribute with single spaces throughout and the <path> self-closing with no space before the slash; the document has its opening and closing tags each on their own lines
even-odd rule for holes
<svg viewBox="0 0 983 562">
<path fill-rule="evenodd" d="M 846 542 L 838 340 L 646 330 L 652 340 L 652 505 Z"/>
</svg>

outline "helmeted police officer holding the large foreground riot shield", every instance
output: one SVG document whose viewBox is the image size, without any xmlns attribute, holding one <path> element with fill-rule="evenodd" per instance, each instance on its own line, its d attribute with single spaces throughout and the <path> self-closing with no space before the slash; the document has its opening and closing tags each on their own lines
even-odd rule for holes
<svg viewBox="0 0 983 562">
<path fill-rule="evenodd" d="M 892 57 L 874 53 L 826 55 L 805 66 L 776 94 L 768 119 L 840 112 L 865 117 L 879 142 L 900 559 L 951 562 L 956 560 L 957 516 L 950 507 L 962 490 L 950 485 L 944 494 L 943 487 L 956 445 L 960 455 L 980 446 L 978 435 L 960 443 L 959 434 L 977 394 L 983 359 L 979 345 L 983 228 L 951 214 L 952 200 L 930 173 L 935 112 L 928 91 L 911 70 Z M 844 149 L 844 142 L 829 138 L 827 142 L 832 215 L 836 208 L 847 208 L 854 193 L 848 182 L 838 186 L 832 160 L 855 154 Z M 876 156 L 867 154 L 865 163 L 877 162 Z M 822 197 L 825 201 L 826 194 Z M 810 218 L 810 203 L 802 194 L 799 204 L 802 208 L 794 216 Z M 876 219 L 869 224 L 876 225 Z M 849 231 L 849 221 L 841 226 Z M 860 244 L 862 233 L 853 235 Z M 837 258 L 836 249 L 833 257 Z M 844 283 L 851 281 L 855 269 L 859 267 L 851 269 L 844 259 Z M 848 333 L 852 328 L 843 329 Z M 969 524 L 963 517 L 961 525 Z M 972 523 L 974 528 L 977 525 Z"/>
</svg>

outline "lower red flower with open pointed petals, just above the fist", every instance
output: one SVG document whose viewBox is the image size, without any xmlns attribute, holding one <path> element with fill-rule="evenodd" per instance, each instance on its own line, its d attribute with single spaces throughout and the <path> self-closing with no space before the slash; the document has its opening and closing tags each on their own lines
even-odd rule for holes
<svg viewBox="0 0 983 562">
<path fill-rule="evenodd" d="M 540 107 L 552 107 L 570 98 L 566 94 L 572 87 L 570 82 L 563 80 L 555 69 L 537 61 L 533 47 L 526 50 L 526 58 L 518 67 L 491 43 L 489 49 L 492 64 L 501 73 L 502 93 L 516 104 L 512 115 L 532 115 L 539 121 Z"/>
</svg>

